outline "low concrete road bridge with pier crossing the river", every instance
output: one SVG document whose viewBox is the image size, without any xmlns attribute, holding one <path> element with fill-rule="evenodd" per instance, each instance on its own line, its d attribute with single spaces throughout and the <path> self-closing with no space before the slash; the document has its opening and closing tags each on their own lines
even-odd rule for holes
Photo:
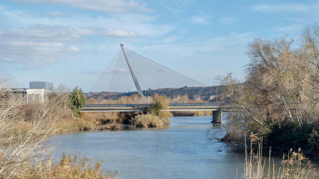
<svg viewBox="0 0 319 179">
<path fill-rule="evenodd" d="M 153 104 L 87 104 L 80 112 L 129 112 L 147 111 Z M 230 104 L 225 103 L 186 103 L 169 104 L 162 111 L 212 111 L 212 123 L 223 123 L 222 114 Z"/>
</svg>

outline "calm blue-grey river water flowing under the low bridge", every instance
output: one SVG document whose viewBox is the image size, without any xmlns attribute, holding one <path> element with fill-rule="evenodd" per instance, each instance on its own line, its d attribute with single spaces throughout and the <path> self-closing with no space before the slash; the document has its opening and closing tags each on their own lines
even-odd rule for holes
<svg viewBox="0 0 319 179">
<path fill-rule="evenodd" d="M 103 170 L 119 170 L 123 179 L 229 179 L 236 170 L 240 178 L 245 154 L 220 151 L 223 143 L 206 140 L 208 130 L 221 127 L 211 124 L 211 116 L 170 119 L 159 128 L 57 134 L 51 140 L 60 142 L 54 157 L 69 152 L 103 159 Z M 272 156 L 276 163 L 282 160 L 281 153 Z"/>
</svg>

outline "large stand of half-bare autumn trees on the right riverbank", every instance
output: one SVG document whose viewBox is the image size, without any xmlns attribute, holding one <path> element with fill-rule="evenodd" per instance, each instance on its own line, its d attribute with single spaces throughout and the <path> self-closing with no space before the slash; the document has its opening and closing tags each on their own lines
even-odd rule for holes
<svg viewBox="0 0 319 179">
<path fill-rule="evenodd" d="M 244 82 L 228 74 L 221 80 L 227 109 L 223 138 L 238 149 L 251 132 L 263 147 L 319 155 L 319 27 L 304 28 L 297 42 L 257 38 L 249 43 Z"/>
</svg>

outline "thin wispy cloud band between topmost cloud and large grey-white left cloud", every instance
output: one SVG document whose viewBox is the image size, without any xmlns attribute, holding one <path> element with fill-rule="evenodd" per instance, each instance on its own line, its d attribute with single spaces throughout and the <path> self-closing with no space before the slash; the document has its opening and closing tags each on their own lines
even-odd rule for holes
<svg viewBox="0 0 319 179">
<path fill-rule="evenodd" d="M 59 14 L 58 12 L 54 13 Z M 19 16 L 17 14 L 19 14 Z M 140 14 L 115 14 L 109 17 L 91 17 L 86 14 L 67 14 L 64 17 L 49 17 L 47 13 L 43 16 L 30 14 L 26 11 L 12 11 L 5 7 L 1 8 L 0 6 L 0 23 L 1 18 L 4 19 L 4 22 L 10 21 L 11 26 L 29 26 L 30 24 L 51 26 L 54 24 L 75 27 L 101 27 L 108 29 L 108 31 L 105 32 L 107 35 L 115 37 L 136 37 L 139 35 L 154 37 L 164 35 L 174 29 L 172 25 L 153 24 L 152 22 L 157 19 L 156 16 Z M 14 19 L 14 21 L 11 19 Z M 125 29 L 127 29 L 127 32 L 124 32 Z M 119 32 L 118 30 L 121 30 L 122 32 Z"/>
</svg>

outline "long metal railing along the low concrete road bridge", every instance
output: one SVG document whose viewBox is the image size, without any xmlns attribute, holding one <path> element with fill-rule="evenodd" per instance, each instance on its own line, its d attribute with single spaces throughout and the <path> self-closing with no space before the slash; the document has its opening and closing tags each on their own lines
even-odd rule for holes
<svg viewBox="0 0 319 179">
<path fill-rule="evenodd" d="M 169 106 L 225 106 L 229 103 L 171 103 Z M 85 107 L 151 107 L 154 104 L 86 104 Z"/>
</svg>

